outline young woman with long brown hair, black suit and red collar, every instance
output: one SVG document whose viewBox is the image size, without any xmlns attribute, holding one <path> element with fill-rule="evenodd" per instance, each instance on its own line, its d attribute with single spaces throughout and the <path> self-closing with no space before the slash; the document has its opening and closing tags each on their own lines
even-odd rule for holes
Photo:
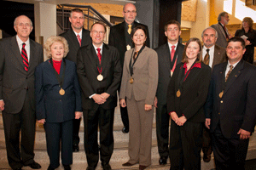
<svg viewBox="0 0 256 170">
<path fill-rule="evenodd" d="M 203 105 L 210 79 L 211 68 L 201 62 L 201 42 L 190 38 L 167 91 L 167 111 L 172 117 L 169 151 L 172 170 L 201 169 Z"/>
</svg>

